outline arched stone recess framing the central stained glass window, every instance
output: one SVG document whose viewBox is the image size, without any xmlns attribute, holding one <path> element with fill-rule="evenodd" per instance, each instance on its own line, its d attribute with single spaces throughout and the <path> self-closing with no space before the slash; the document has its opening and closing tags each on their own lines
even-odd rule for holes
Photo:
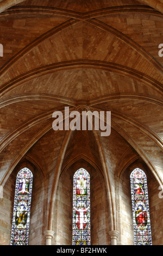
<svg viewBox="0 0 163 256">
<path fill-rule="evenodd" d="M 62 170 L 55 199 L 55 245 L 72 245 L 73 175 L 84 168 L 90 174 L 91 245 L 108 245 L 109 206 L 103 175 L 86 157 L 77 157 Z"/>
</svg>

